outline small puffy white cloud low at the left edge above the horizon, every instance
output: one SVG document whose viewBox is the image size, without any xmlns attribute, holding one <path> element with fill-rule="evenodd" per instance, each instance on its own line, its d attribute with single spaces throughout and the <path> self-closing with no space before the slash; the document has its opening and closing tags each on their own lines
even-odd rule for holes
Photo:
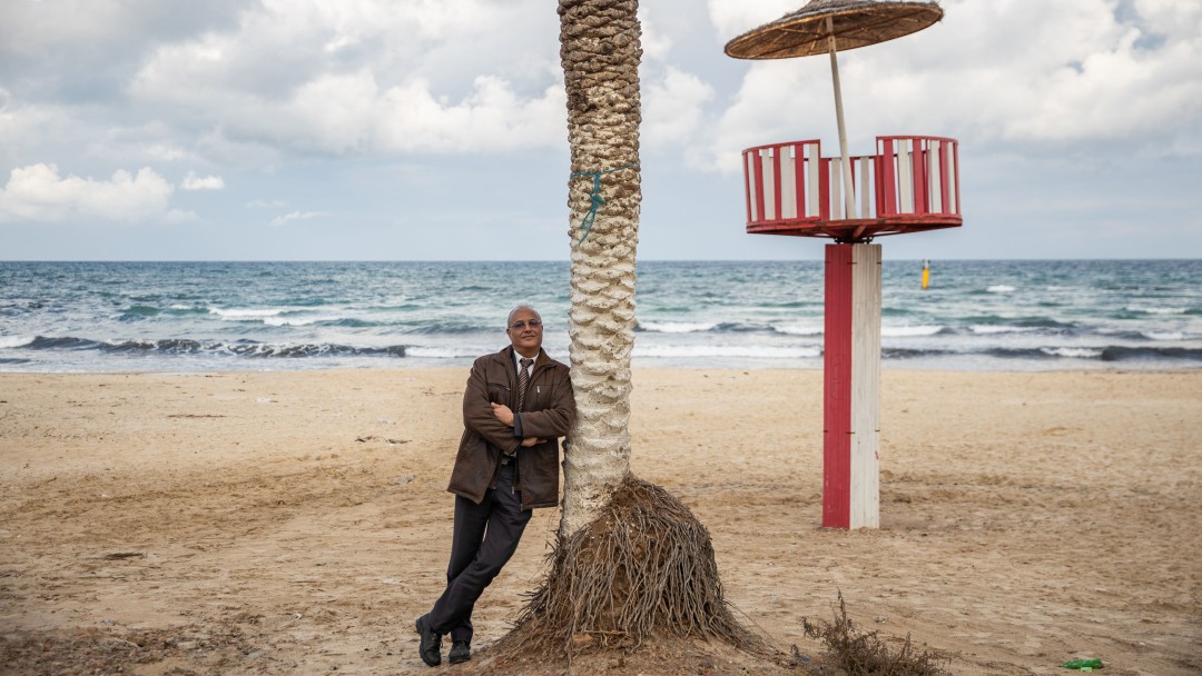
<svg viewBox="0 0 1202 676">
<path fill-rule="evenodd" d="M 0 190 L 0 222 L 60 222 L 67 219 L 125 223 L 177 222 L 191 214 L 172 210 L 172 186 L 143 167 L 137 174 L 114 172 L 108 180 L 60 177 L 55 164 L 12 169 Z"/>
</svg>

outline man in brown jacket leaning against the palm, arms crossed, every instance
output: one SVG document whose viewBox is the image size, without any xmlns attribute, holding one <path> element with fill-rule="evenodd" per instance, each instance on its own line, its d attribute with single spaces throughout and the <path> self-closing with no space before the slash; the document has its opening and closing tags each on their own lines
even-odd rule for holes
<svg viewBox="0 0 1202 676">
<path fill-rule="evenodd" d="M 447 586 L 417 618 L 422 662 L 471 659 L 471 611 L 513 556 L 535 507 L 559 503 L 559 444 L 576 418 L 569 369 L 542 349 L 542 318 L 510 312 L 510 346 L 476 360 L 463 394 L 463 437 L 447 490 L 454 531 Z"/>
</svg>

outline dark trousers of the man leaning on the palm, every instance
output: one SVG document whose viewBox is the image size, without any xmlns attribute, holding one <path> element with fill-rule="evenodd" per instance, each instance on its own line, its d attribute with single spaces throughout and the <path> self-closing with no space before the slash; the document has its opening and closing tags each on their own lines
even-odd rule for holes
<svg viewBox="0 0 1202 676">
<path fill-rule="evenodd" d="M 451 634 L 452 641 L 471 642 L 476 599 L 517 551 L 530 521 L 531 510 L 522 509 L 520 493 L 513 491 L 516 471 L 516 462 L 502 466 L 496 487 L 489 489 L 480 504 L 454 498 L 447 588 L 427 616 L 430 628 Z"/>
</svg>

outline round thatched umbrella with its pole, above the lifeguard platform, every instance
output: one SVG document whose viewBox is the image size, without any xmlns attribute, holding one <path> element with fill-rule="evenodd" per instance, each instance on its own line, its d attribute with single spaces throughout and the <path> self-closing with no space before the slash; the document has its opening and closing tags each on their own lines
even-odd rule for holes
<svg viewBox="0 0 1202 676">
<path fill-rule="evenodd" d="M 855 49 L 920 31 L 944 17 L 935 2 L 892 2 L 885 0 L 810 0 L 801 10 L 744 32 L 726 43 L 726 54 L 736 59 L 787 59 L 831 54 L 834 79 L 834 108 L 843 155 L 844 205 L 853 210 L 847 131 L 843 121 L 843 90 L 835 52 Z"/>
</svg>

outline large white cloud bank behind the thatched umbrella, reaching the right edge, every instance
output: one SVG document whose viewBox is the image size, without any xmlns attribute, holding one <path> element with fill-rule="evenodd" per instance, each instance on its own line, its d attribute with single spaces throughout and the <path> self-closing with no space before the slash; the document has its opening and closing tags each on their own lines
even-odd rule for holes
<svg viewBox="0 0 1202 676">
<path fill-rule="evenodd" d="M 941 5 L 944 20 L 926 31 L 839 54 L 853 152 L 893 133 L 952 136 L 974 154 L 1202 152 L 1202 4 Z M 732 36 L 754 28 L 733 2 L 712 0 L 710 12 Z M 827 59 L 745 64 L 706 164 L 737 172 L 738 151 L 762 143 L 834 145 Z"/>
</svg>

